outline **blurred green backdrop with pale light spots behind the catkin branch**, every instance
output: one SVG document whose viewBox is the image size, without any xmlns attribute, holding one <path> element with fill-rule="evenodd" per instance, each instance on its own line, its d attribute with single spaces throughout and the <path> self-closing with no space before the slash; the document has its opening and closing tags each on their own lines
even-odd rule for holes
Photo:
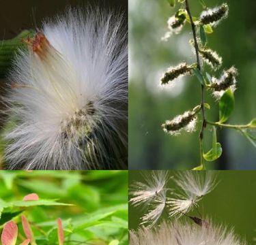
<svg viewBox="0 0 256 245">
<path fill-rule="evenodd" d="M 205 0 L 220 5 L 220 0 Z M 227 1 L 229 17 L 208 35 L 208 46 L 223 57 L 223 68 L 235 65 L 240 76 L 235 93 L 236 108 L 230 123 L 246 124 L 256 116 L 256 1 Z M 201 13 L 199 1 L 190 1 L 194 16 Z M 160 76 L 170 65 L 195 62 L 188 40 L 189 25 L 167 42 L 167 20 L 175 13 L 166 0 L 129 0 L 129 167 L 130 169 L 191 169 L 199 165 L 199 132 L 179 137 L 165 134 L 160 125 L 177 114 L 190 110 L 200 101 L 200 85 L 195 77 L 175 81 L 160 88 Z M 205 66 L 206 67 L 206 66 Z M 219 69 L 215 76 L 219 76 Z M 208 70 L 209 71 L 209 70 Z M 218 120 L 218 105 L 212 95 L 209 120 Z M 210 169 L 254 169 L 255 147 L 233 129 L 218 131 L 223 155 Z M 205 152 L 210 149 L 211 133 L 205 131 Z"/>
</svg>

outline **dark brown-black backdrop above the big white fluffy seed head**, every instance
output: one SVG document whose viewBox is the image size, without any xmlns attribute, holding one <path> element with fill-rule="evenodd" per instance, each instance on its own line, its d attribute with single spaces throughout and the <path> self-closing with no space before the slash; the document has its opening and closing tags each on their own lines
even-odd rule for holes
<svg viewBox="0 0 256 245">
<path fill-rule="evenodd" d="M 23 29 L 40 27 L 44 18 L 63 12 L 68 6 L 103 5 L 113 10 L 125 12 L 127 16 L 127 0 L 1 0 L 0 37 L 15 37 Z"/>
</svg>

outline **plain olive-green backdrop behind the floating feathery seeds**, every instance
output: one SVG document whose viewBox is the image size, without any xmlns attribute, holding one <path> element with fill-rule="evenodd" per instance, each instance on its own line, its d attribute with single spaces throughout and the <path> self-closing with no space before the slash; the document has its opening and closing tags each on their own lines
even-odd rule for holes
<svg viewBox="0 0 256 245">
<path fill-rule="evenodd" d="M 150 171 L 146 170 L 129 172 L 129 186 L 134 182 L 143 182 L 142 172 L 150 176 Z M 177 171 L 169 171 L 169 174 L 175 176 Z M 234 227 L 235 233 L 245 238 L 248 244 L 253 244 L 256 235 L 256 171 L 216 171 L 216 174 L 218 185 L 199 202 L 199 210 L 217 225 Z M 167 187 L 175 189 L 175 182 L 170 180 Z M 139 218 L 145 212 L 129 204 L 129 229 L 139 227 Z M 189 214 L 198 216 L 197 212 Z"/>
</svg>

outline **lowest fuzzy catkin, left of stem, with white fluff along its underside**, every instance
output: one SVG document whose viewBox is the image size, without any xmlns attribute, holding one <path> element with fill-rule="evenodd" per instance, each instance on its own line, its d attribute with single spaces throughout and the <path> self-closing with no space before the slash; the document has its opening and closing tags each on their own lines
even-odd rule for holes
<svg viewBox="0 0 256 245">
<path fill-rule="evenodd" d="M 197 122 L 196 112 L 187 111 L 184 114 L 175 116 L 173 120 L 167 120 L 162 124 L 162 129 L 170 135 L 178 135 L 182 130 L 187 132 L 195 131 Z"/>
</svg>

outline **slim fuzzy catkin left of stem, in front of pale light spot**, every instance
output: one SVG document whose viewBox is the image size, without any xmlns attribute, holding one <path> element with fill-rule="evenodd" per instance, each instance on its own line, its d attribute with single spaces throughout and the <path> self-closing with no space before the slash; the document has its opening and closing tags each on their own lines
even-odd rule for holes
<svg viewBox="0 0 256 245">
<path fill-rule="evenodd" d="M 192 67 L 187 65 L 187 63 L 180 63 L 180 65 L 177 65 L 176 67 L 169 67 L 168 71 L 161 78 L 161 84 L 168 84 L 175 78 L 179 78 L 190 73 L 191 69 Z"/>
</svg>

